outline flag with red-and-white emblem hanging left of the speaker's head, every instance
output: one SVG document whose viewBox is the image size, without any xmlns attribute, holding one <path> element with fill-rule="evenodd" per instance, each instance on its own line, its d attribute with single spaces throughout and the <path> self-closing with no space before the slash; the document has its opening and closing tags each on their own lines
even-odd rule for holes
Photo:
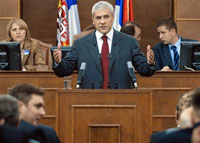
<svg viewBox="0 0 200 143">
<path fill-rule="evenodd" d="M 61 46 L 71 46 L 73 37 L 79 34 L 80 22 L 76 0 L 59 0 L 57 15 L 57 42 Z"/>
</svg>

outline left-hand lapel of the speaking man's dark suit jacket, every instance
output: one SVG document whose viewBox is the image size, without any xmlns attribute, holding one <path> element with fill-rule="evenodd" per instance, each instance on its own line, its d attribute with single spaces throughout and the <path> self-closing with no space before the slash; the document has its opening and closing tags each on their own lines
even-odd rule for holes
<svg viewBox="0 0 200 143">
<path fill-rule="evenodd" d="M 87 49 L 91 55 L 91 58 L 97 65 L 98 69 L 101 72 L 101 63 L 100 63 L 100 54 L 99 54 L 99 49 L 98 49 L 98 44 L 95 36 L 95 32 L 91 34 L 88 39 L 87 39 Z"/>
</svg>

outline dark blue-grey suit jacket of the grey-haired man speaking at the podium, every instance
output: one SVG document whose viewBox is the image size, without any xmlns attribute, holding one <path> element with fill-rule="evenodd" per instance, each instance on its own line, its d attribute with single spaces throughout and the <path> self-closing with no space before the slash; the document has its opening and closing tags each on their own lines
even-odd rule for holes
<svg viewBox="0 0 200 143">
<path fill-rule="evenodd" d="M 68 76 L 74 69 L 80 69 L 82 62 L 86 62 L 83 77 L 83 88 L 101 88 L 103 83 L 101 56 L 99 56 L 95 33 L 76 40 L 62 62 L 54 67 L 57 76 Z M 143 76 L 154 73 L 141 52 L 137 41 L 126 34 L 114 30 L 111 55 L 109 56 L 109 81 L 110 88 L 131 88 L 131 78 L 127 68 L 127 61 L 132 61 L 133 66 Z"/>
</svg>

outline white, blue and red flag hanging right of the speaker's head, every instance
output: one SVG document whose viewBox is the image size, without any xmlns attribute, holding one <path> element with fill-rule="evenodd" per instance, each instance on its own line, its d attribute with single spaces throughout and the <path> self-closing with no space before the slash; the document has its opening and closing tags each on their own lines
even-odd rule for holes
<svg viewBox="0 0 200 143">
<path fill-rule="evenodd" d="M 133 20 L 133 0 L 116 0 L 113 27 L 120 31 L 125 22 Z"/>
</svg>

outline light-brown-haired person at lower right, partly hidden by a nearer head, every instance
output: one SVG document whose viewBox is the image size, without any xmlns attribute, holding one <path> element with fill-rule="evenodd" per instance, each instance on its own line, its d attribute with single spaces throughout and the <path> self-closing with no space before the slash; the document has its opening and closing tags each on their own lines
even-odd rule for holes
<svg viewBox="0 0 200 143">
<path fill-rule="evenodd" d="M 175 111 L 175 117 L 176 117 L 176 128 L 170 128 L 161 132 L 156 132 L 151 135 L 151 143 L 158 143 L 160 140 L 162 140 L 167 134 L 172 133 L 174 131 L 177 131 L 179 129 L 188 128 L 192 126 L 191 117 L 185 110 L 187 110 L 189 107 L 191 107 L 192 102 L 192 95 L 193 92 L 188 92 L 180 96 L 176 111 Z"/>
</svg>

